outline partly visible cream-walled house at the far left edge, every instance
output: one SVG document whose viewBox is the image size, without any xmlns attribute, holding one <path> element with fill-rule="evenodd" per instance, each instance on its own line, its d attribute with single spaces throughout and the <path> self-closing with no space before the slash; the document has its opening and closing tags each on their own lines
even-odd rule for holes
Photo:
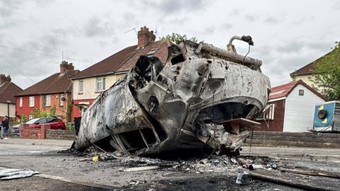
<svg viewBox="0 0 340 191">
<path fill-rule="evenodd" d="M 0 121 L 7 115 L 11 120 L 16 119 L 16 99 L 14 95 L 23 91 L 11 82 L 11 76 L 0 74 Z"/>
</svg>

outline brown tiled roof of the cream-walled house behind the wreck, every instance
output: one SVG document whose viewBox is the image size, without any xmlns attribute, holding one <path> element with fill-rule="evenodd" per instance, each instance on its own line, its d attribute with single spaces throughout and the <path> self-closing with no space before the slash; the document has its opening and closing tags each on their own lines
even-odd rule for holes
<svg viewBox="0 0 340 191">
<path fill-rule="evenodd" d="M 123 50 L 103 59 L 89 68 L 79 72 L 79 74 L 72 76 L 72 79 L 82 79 L 90 76 L 102 76 L 106 74 L 113 74 L 115 72 L 123 72 L 132 69 L 135 66 L 137 59 L 148 52 L 158 49 L 155 57 L 165 64 L 168 57 L 168 47 L 171 45 L 169 40 L 159 40 L 149 43 L 145 48 L 137 49 L 137 45 L 126 47 Z"/>
</svg>

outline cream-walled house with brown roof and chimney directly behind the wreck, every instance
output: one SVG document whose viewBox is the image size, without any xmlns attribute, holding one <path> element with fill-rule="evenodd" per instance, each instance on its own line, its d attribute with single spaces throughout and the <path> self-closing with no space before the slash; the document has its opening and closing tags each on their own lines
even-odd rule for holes
<svg viewBox="0 0 340 191">
<path fill-rule="evenodd" d="M 142 27 L 137 33 L 137 45 L 123 50 L 89 66 L 72 76 L 73 81 L 73 117 L 81 116 L 81 109 L 86 108 L 94 99 L 115 81 L 118 81 L 127 71 L 130 71 L 137 59 L 142 55 L 155 56 L 165 63 L 168 56 L 169 40 L 154 41 L 156 36 L 149 28 Z"/>
</svg>

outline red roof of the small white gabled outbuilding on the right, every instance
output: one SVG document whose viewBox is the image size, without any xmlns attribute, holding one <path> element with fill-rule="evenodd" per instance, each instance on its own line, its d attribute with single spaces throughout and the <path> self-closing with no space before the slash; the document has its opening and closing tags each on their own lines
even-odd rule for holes
<svg viewBox="0 0 340 191">
<path fill-rule="evenodd" d="M 314 88 L 308 86 L 307 83 L 305 83 L 302 80 L 299 80 L 299 81 L 290 81 L 289 83 L 285 83 L 283 85 L 271 88 L 271 93 L 269 93 L 269 100 L 274 100 L 274 99 L 278 99 L 278 98 L 286 98 L 289 95 L 289 93 L 291 91 L 293 91 L 293 89 L 298 84 L 301 84 L 302 86 L 305 86 L 307 89 L 312 91 L 314 94 L 316 94 L 317 96 L 319 96 L 323 100 L 328 100 L 326 97 L 322 96 L 321 93 L 319 93 L 316 90 L 314 90 Z"/>
</svg>

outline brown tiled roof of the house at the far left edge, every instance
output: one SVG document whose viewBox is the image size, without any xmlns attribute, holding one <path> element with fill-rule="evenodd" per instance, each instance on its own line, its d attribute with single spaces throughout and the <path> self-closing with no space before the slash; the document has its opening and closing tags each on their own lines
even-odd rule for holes
<svg viewBox="0 0 340 191">
<path fill-rule="evenodd" d="M 11 81 L 6 81 L 0 84 L 0 103 L 7 103 L 8 100 L 11 103 L 15 103 L 16 99 L 14 95 L 23 91 L 19 86 L 16 86 L 15 83 Z"/>
</svg>

